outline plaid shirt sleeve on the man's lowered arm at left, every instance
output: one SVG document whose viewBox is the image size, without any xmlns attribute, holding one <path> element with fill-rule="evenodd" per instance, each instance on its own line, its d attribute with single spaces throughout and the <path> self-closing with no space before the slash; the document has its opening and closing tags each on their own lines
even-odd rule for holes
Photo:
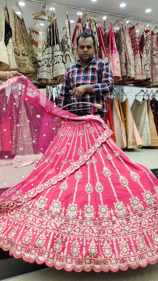
<svg viewBox="0 0 158 281">
<path fill-rule="evenodd" d="M 69 83 L 68 83 L 67 71 L 66 71 L 63 78 L 61 92 L 59 94 L 58 106 L 63 107 L 66 106 L 68 103 L 69 103 Z M 64 109 L 66 110 L 66 108 Z"/>
</svg>

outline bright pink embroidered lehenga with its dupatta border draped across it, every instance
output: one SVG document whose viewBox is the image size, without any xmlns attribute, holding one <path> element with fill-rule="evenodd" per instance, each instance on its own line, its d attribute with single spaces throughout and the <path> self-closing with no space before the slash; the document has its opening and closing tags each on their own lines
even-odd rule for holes
<svg viewBox="0 0 158 281">
<path fill-rule="evenodd" d="M 26 77 L 1 89 L 14 82 L 25 83 L 21 99 L 51 116 L 57 131 L 28 178 L 1 194 L 0 247 L 66 271 L 155 264 L 155 176 L 124 154 L 100 116 L 58 108 Z"/>
</svg>

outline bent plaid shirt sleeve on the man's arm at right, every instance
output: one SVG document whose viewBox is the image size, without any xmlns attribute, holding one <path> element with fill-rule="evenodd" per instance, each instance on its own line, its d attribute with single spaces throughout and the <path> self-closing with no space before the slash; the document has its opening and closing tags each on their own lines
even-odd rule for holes
<svg viewBox="0 0 158 281">
<path fill-rule="evenodd" d="M 114 79 L 109 63 L 102 61 L 100 65 L 100 83 L 92 84 L 92 91 L 96 97 L 111 95 L 114 92 Z"/>
</svg>

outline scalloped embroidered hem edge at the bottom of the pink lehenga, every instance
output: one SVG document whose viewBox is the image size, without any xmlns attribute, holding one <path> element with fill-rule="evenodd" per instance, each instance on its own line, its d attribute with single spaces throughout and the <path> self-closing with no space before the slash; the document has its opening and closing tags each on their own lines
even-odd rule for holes
<svg viewBox="0 0 158 281">
<path fill-rule="evenodd" d="M 108 264 L 103 264 L 102 266 L 100 265 L 93 265 L 93 264 L 66 264 L 60 261 L 53 261 L 48 258 L 40 257 L 40 256 L 33 256 L 27 253 L 20 253 L 18 251 L 13 250 L 11 247 L 8 245 L 0 245 L 0 248 L 2 248 L 4 251 L 9 251 L 10 255 L 13 255 L 15 258 L 23 258 L 24 261 L 29 262 L 29 263 L 34 263 L 36 261 L 37 264 L 46 264 L 49 267 L 54 266 L 56 269 L 64 269 L 66 271 L 72 271 L 74 270 L 75 272 L 81 272 L 82 270 L 89 272 L 91 270 L 94 270 L 95 272 L 108 272 L 109 270 L 112 272 L 117 272 L 118 270 L 125 271 L 128 268 L 136 269 L 138 266 L 141 267 L 146 267 L 148 264 L 156 264 L 158 260 L 158 254 L 157 256 L 153 256 L 148 259 L 143 259 L 142 261 L 139 262 L 130 262 L 130 263 L 122 263 L 120 265 L 108 265 Z M 19 254 L 17 254 L 19 253 Z M 107 260 L 108 261 L 108 260 Z"/>
</svg>

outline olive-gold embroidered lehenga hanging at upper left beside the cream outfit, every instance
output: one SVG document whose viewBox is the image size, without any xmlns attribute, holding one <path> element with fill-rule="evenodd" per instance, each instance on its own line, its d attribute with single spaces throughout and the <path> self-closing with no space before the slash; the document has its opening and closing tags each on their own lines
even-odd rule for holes
<svg viewBox="0 0 158 281">
<path fill-rule="evenodd" d="M 17 70 L 30 80 L 36 80 L 39 63 L 33 52 L 24 20 L 15 12 L 12 12 L 12 41 Z"/>
</svg>

